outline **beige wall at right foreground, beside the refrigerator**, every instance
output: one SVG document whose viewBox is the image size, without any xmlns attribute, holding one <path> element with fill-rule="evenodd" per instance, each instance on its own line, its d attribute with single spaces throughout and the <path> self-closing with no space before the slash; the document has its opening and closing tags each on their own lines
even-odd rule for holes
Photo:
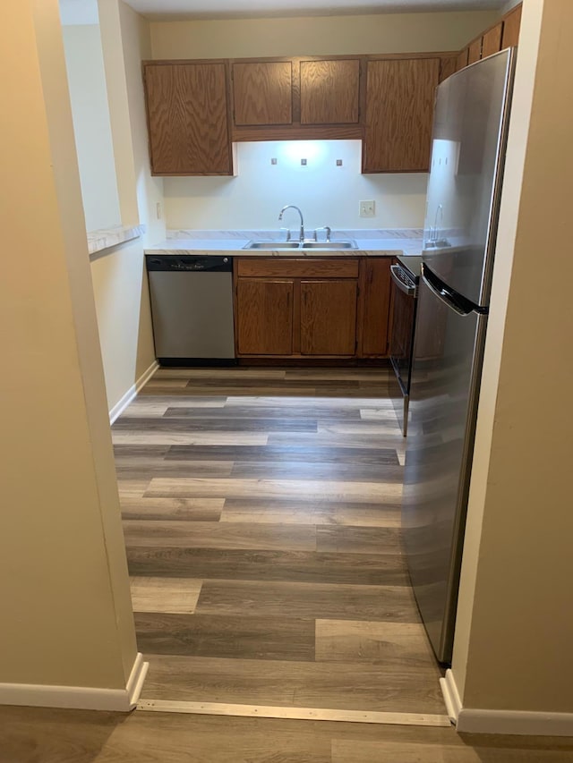
<svg viewBox="0 0 573 763">
<path fill-rule="evenodd" d="M 465 708 L 573 712 L 571 35 L 570 0 L 526 0 L 452 665 Z"/>
</svg>

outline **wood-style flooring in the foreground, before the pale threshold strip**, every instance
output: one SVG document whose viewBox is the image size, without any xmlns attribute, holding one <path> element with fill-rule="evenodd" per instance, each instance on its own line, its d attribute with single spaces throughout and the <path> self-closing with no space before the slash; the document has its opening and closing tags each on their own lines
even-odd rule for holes
<svg viewBox="0 0 573 763">
<path fill-rule="evenodd" d="M 453 728 L 0 707 L 0 763 L 572 763 L 573 740 Z"/>
</svg>

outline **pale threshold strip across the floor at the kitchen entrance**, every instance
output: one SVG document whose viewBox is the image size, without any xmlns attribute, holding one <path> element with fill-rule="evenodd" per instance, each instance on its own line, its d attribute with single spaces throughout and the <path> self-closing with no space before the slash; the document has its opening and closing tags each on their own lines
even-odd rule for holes
<svg viewBox="0 0 573 763">
<path fill-rule="evenodd" d="M 448 716 L 419 713 L 383 713 L 373 710 L 330 710 L 327 708 L 283 708 L 266 705 L 232 705 L 227 702 L 185 702 L 170 699 L 142 699 L 138 710 L 156 713 L 192 713 L 204 716 L 287 718 L 289 720 L 343 721 L 355 724 L 449 726 Z"/>
</svg>

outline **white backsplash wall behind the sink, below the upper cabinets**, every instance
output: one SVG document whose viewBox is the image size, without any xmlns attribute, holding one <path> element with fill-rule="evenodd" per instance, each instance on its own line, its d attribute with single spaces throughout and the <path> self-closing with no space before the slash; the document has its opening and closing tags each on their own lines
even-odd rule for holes
<svg viewBox="0 0 573 763">
<path fill-rule="evenodd" d="M 295 230 L 296 214 L 278 222 L 285 204 L 302 208 L 308 228 L 423 225 L 427 175 L 361 174 L 360 140 L 263 141 L 236 148 L 234 178 L 166 178 L 170 228 Z M 277 165 L 271 165 L 273 157 Z M 375 200 L 375 217 L 358 216 L 360 199 Z"/>
</svg>

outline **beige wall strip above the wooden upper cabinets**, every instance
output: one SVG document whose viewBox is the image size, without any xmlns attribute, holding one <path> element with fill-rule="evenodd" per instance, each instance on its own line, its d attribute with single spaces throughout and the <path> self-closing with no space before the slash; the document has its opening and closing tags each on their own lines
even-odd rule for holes
<svg viewBox="0 0 573 763">
<path fill-rule="evenodd" d="M 151 23 L 153 58 L 344 55 L 458 50 L 499 16 L 378 13 Z"/>
</svg>

